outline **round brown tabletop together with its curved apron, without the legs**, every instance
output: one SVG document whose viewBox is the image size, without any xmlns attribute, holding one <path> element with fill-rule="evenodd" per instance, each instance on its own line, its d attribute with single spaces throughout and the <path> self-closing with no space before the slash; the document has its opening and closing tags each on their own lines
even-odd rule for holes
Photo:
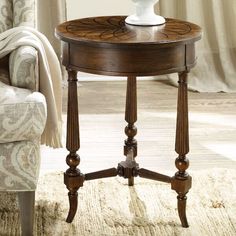
<svg viewBox="0 0 236 236">
<path fill-rule="evenodd" d="M 192 68 L 199 26 L 175 19 L 165 25 L 127 25 L 124 16 L 85 18 L 59 25 L 63 64 L 74 70 L 113 76 L 168 74 Z M 171 56 L 170 56 L 171 55 Z"/>
</svg>

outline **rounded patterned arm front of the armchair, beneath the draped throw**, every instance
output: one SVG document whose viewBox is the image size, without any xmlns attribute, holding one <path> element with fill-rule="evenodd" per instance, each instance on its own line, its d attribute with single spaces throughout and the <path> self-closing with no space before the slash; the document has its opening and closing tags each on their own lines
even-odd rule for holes
<svg viewBox="0 0 236 236">
<path fill-rule="evenodd" d="M 32 91 L 39 90 L 38 52 L 31 46 L 21 46 L 9 57 L 11 85 Z"/>
</svg>

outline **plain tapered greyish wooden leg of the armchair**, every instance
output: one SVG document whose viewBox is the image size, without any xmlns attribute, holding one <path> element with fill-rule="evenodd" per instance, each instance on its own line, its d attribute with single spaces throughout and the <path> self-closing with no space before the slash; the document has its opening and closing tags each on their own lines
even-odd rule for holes
<svg viewBox="0 0 236 236">
<path fill-rule="evenodd" d="M 18 192 L 22 236 L 33 236 L 35 191 Z"/>
</svg>

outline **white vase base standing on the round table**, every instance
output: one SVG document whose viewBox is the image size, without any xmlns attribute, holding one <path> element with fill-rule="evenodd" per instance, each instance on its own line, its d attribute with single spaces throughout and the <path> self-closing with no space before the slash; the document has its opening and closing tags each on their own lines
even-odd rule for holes
<svg viewBox="0 0 236 236">
<path fill-rule="evenodd" d="M 154 12 L 154 4 L 159 0 L 132 0 L 136 5 L 136 13 L 125 19 L 125 22 L 130 25 L 162 25 L 165 23 L 165 18 L 156 15 Z"/>
</svg>

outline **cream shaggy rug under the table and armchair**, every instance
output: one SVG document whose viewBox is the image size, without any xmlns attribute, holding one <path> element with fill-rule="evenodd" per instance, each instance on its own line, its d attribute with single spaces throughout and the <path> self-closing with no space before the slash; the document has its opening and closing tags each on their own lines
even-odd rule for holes
<svg viewBox="0 0 236 236">
<path fill-rule="evenodd" d="M 67 190 L 62 173 L 40 178 L 36 195 L 35 235 L 55 236 L 233 236 L 236 235 L 236 171 L 191 173 L 188 193 L 190 227 L 180 225 L 176 193 L 170 185 L 136 178 L 88 181 L 79 190 L 72 224 L 65 222 Z M 20 235 L 14 194 L 0 194 L 0 235 Z"/>
</svg>

